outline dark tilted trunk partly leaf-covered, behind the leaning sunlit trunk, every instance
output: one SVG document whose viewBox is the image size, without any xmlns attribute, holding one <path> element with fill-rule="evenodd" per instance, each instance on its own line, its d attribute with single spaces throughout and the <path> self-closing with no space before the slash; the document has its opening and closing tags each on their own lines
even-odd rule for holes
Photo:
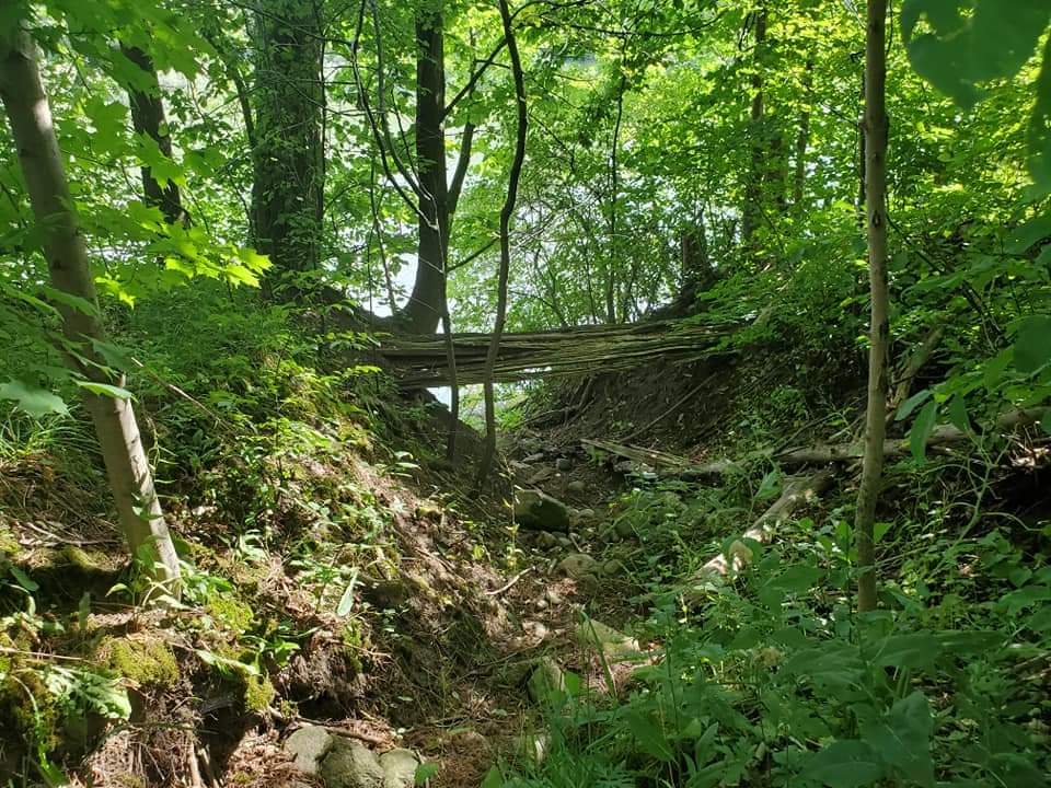
<svg viewBox="0 0 1051 788">
<path fill-rule="evenodd" d="M 131 106 L 131 125 L 136 134 L 152 139 L 166 159 L 172 158 L 172 138 L 168 134 L 164 118 L 164 104 L 161 101 L 161 85 L 157 79 L 153 60 L 138 47 L 120 44 L 122 54 L 142 71 L 143 89 L 128 85 L 128 104 Z M 142 193 L 146 204 L 161 209 L 164 220 L 170 224 L 188 224 L 189 215 L 183 209 L 178 186 L 169 181 L 161 186 L 149 166 L 142 166 Z"/>
</svg>

